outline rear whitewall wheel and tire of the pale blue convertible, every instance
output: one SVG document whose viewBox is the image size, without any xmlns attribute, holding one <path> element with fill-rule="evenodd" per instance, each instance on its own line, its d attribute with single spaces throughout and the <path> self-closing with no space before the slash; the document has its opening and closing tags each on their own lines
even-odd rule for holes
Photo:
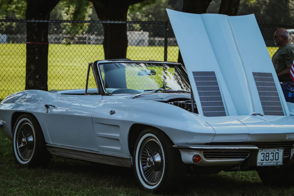
<svg viewBox="0 0 294 196">
<path fill-rule="evenodd" d="M 50 161 L 39 122 L 31 114 L 22 114 L 16 120 L 12 148 L 19 165 L 42 166 Z"/>
</svg>

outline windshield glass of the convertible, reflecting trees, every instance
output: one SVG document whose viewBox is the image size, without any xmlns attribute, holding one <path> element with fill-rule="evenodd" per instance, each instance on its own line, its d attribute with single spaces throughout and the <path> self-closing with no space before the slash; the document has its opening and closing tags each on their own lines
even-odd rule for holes
<svg viewBox="0 0 294 196">
<path fill-rule="evenodd" d="M 187 73 L 177 64 L 103 63 L 98 68 L 108 93 L 136 94 L 158 88 L 190 91 Z"/>
</svg>

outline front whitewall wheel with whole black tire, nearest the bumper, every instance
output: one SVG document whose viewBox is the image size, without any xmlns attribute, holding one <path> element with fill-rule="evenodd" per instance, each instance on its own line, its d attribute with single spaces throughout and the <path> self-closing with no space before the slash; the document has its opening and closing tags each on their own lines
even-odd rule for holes
<svg viewBox="0 0 294 196">
<path fill-rule="evenodd" d="M 146 129 L 138 137 L 134 150 L 134 171 L 139 184 L 153 192 L 176 188 L 183 176 L 181 155 L 160 130 Z"/>
</svg>

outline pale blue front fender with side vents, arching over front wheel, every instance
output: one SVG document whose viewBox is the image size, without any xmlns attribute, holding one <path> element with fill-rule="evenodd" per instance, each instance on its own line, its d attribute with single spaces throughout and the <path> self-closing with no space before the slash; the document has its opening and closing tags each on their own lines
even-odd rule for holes
<svg viewBox="0 0 294 196">
<path fill-rule="evenodd" d="M 111 114 L 111 111 L 115 113 Z M 92 121 L 95 136 L 101 137 L 98 146 L 104 143 L 103 138 L 117 139 L 119 142 L 113 142 L 112 148 L 119 149 L 118 152 L 123 154 L 128 154 L 128 131 L 135 123 L 162 130 L 174 144 L 210 143 L 215 135 L 213 128 L 199 122 L 195 114 L 151 100 L 102 100 L 92 114 Z M 100 150 L 107 151 L 104 147 Z"/>
</svg>

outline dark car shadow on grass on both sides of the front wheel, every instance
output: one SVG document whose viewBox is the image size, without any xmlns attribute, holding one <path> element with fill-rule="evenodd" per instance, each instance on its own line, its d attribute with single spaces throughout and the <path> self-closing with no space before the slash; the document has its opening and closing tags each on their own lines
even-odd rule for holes
<svg viewBox="0 0 294 196">
<path fill-rule="evenodd" d="M 108 181 L 117 188 L 139 189 L 133 168 L 54 157 L 48 169 L 61 174 L 74 172 L 90 181 Z M 291 195 L 294 192 L 293 188 L 264 185 L 256 171 L 187 175 L 185 179 L 178 179 L 177 184 L 177 190 L 171 195 Z"/>
</svg>

